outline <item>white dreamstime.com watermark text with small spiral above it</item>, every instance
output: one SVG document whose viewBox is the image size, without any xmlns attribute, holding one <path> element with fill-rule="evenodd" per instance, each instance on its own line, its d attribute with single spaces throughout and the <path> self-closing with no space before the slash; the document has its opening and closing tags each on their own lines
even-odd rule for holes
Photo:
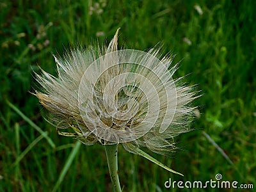
<svg viewBox="0 0 256 192">
<path fill-rule="evenodd" d="M 253 184 L 239 184 L 236 180 L 222 180 L 223 177 L 220 173 L 215 175 L 215 180 L 207 180 L 205 182 L 201 180 L 195 181 L 176 181 L 170 178 L 164 182 L 165 188 L 187 188 L 187 189 L 204 189 L 204 188 L 212 188 L 212 189 L 253 189 Z"/>
</svg>

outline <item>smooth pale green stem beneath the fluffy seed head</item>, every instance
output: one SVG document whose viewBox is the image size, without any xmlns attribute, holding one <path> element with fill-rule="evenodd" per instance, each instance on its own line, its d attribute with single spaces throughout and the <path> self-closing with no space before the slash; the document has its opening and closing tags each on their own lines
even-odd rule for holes
<svg viewBox="0 0 256 192">
<path fill-rule="evenodd" d="M 108 159 L 108 169 L 111 177 L 112 184 L 116 192 L 121 192 L 119 177 L 118 177 L 118 165 L 117 165 L 117 145 L 104 145 L 106 150 L 106 156 Z"/>
</svg>

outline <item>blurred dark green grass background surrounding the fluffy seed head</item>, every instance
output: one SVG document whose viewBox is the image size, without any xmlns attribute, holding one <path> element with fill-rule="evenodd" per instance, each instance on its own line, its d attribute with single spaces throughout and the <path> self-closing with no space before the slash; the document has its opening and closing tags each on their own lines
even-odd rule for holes
<svg viewBox="0 0 256 192">
<path fill-rule="evenodd" d="M 255 7 L 253 0 L 0 1 L 0 191 L 112 190 L 104 148 L 58 136 L 29 91 L 38 86 L 38 66 L 56 75 L 51 53 L 77 42 L 108 43 L 118 28 L 120 47 L 143 51 L 160 42 L 163 53 L 177 54 L 175 77 L 189 74 L 186 81 L 204 94 L 195 102 L 195 131 L 176 138 L 181 150 L 150 153 L 184 177 L 119 146 L 124 191 L 199 191 L 166 189 L 164 182 L 214 180 L 217 173 L 256 188 Z"/>
</svg>

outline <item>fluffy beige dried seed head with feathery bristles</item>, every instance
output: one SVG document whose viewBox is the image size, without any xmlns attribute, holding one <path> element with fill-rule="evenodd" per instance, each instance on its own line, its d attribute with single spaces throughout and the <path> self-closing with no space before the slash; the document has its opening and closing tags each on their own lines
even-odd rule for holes
<svg viewBox="0 0 256 192">
<path fill-rule="evenodd" d="M 126 150 L 147 147 L 163 154 L 174 148 L 173 137 L 188 131 L 193 119 L 193 87 L 172 79 L 177 65 L 148 52 L 117 49 L 118 31 L 108 47 L 76 49 L 54 56 L 58 77 L 42 70 L 35 93 L 60 132 L 86 145 L 122 143 Z"/>
</svg>

